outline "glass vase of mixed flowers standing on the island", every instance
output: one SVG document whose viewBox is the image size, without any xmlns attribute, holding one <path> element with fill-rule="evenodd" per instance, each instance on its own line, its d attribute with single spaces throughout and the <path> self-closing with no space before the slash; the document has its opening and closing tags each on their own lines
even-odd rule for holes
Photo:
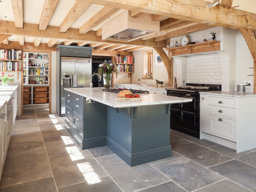
<svg viewBox="0 0 256 192">
<path fill-rule="evenodd" d="M 111 76 L 113 72 L 117 72 L 115 63 L 109 63 L 107 60 L 104 63 L 99 65 L 99 68 L 95 71 L 98 74 L 103 76 L 104 88 L 109 89 L 111 84 Z"/>
</svg>

